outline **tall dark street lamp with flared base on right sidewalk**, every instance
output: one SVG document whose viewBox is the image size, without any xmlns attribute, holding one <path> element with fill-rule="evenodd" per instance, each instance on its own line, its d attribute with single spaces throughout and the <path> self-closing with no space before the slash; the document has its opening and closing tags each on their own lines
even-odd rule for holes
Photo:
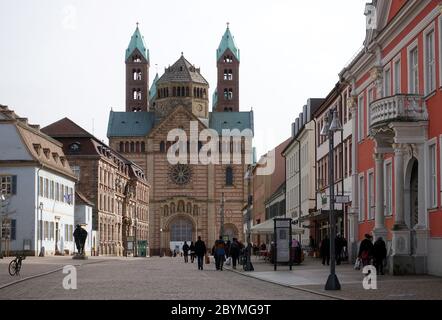
<svg viewBox="0 0 442 320">
<path fill-rule="evenodd" d="M 329 123 L 330 119 L 332 122 Z M 341 121 L 339 120 L 338 112 L 335 110 L 329 111 L 325 118 L 324 126 L 321 130 L 321 135 L 328 137 L 329 152 L 328 152 L 328 177 L 330 184 L 330 275 L 328 276 L 325 290 L 341 290 L 341 284 L 336 276 L 336 256 L 335 256 L 335 238 L 336 238 L 336 217 L 335 217 L 335 185 L 334 185 L 334 135 L 335 132 L 342 131 Z"/>
</svg>

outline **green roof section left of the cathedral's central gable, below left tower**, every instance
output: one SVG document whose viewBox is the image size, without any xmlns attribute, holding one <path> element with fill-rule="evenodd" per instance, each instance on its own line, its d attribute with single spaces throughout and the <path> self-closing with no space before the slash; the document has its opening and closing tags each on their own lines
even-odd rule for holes
<svg viewBox="0 0 442 320">
<path fill-rule="evenodd" d="M 153 112 L 114 112 L 109 114 L 107 137 L 145 137 L 155 124 Z"/>
</svg>

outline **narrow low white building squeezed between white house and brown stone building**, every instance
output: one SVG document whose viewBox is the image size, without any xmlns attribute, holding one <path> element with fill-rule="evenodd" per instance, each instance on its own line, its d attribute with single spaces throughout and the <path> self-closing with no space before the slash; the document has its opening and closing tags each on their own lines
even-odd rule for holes
<svg viewBox="0 0 442 320">
<path fill-rule="evenodd" d="M 87 256 L 92 256 L 96 252 L 97 243 L 96 233 L 92 230 L 92 208 L 94 204 L 89 201 L 80 192 L 75 192 L 75 216 L 74 225 L 80 225 L 87 231 L 86 243 L 84 244 L 84 252 Z M 77 248 L 75 247 L 75 252 Z"/>
</svg>

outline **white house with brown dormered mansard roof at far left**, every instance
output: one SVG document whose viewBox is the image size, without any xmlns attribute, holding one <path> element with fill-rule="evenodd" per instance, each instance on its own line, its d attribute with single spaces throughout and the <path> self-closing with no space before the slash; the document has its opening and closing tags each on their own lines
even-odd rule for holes
<svg viewBox="0 0 442 320">
<path fill-rule="evenodd" d="M 2 250 L 73 251 L 75 175 L 62 145 L 0 105 Z"/>
</svg>

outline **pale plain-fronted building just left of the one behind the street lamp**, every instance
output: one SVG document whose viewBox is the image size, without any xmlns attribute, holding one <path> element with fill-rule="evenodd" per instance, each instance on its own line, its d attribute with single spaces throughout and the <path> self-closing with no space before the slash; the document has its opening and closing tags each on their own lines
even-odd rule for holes
<svg viewBox="0 0 442 320">
<path fill-rule="evenodd" d="M 309 215 L 316 211 L 315 123 L 313 113 L 323 99 L 309 99 L 292 124 L 292 140 L 283 151 L 286 161 L 286 216 L 305 228 L 301 244 L 309 245 Z"/>
</svg>

